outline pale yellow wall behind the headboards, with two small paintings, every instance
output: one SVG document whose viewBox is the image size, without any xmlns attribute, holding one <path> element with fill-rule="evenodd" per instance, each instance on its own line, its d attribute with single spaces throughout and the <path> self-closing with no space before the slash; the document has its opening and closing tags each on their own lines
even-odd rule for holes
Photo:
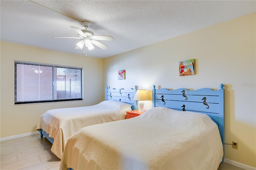
<svg viewBox="0 0 256 170">
<path fill-rule="evenodd" d="M 225 87 L 224 157 L 256 167 L 256 14 L 216 24 L 103 60 L 104 86 L 152 90 Z M 196 75 L 179 76 L 178 61 L 195 59 Z M 126 80 L 117 71 L 126 69 Z M 148 102 L 146 109 L 151 107 Z"/>
</svg>

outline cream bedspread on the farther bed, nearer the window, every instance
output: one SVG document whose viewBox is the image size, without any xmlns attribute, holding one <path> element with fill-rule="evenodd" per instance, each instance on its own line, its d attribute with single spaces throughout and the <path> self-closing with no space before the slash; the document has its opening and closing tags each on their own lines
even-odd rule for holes
<svg viewBox="0 0 256 170">
<path fill-rule="evenodd" d="M 103 101 L 97 105 L 52 109 L 41 115 L 36 130 L 43 129 L 54 138 L 51 151 L 61 159 L 68 138 L 83 127 L 125 119 L 131 105 Z"/>
</svg>

